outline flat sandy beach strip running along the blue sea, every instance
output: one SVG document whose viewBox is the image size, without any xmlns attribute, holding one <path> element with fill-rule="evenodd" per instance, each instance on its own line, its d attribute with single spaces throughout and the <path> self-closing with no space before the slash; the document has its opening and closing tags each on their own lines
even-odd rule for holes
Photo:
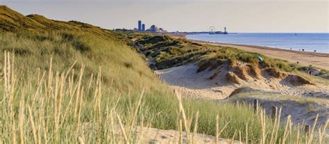
<svg viewBox="0 0 329 144">
<path fill-rule="evenodd" d="M 262 54 L 264 56 L 269 56 L 271 58 L 278 58 L 290 63 L 297 63 L 304 66 L 315 66 L 323 70 L 329 70 L 329 54 L 321 52 L 312 51 L 296 51 L 290 49 L 281 49 L 276 47 L 264 47 L 258 45 L 237 45 L 228 43 L 217 43 L 217 42 L 205 42 L 202 40 L 192 40 L 187 39 L 185 35 L 170 35 L 173 38 L 185 38 L 186 40 L 191 40 L 192 42 L 198 42 L 208 45 L 217 45 L 221 47 L 233 47 L 237 49 L 242 49 L 244 51 L 255 52 Z"/>
</svg>

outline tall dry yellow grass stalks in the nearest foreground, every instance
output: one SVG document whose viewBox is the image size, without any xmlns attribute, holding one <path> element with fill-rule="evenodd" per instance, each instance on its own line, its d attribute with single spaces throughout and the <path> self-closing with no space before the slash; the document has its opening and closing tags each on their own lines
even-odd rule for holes
<svg viewBox="0 0 329 144">
<path fill-rule="evenodd" d="M 106 99 L 101 95 L 101 72 L 92 80 L 93 97 L 87 97 L 87 86 L 81 82 L 84 66 L 74 79 L 74 72 L 70 68 L 67 72 L 52 71 L 50 62 L 49 71 L 39 72 L 37 77 L 26 81 L 17 79 L 15 72 L 15 56 L 6 52 L 3 65 L 3 97 L 1 97 L 1 141 L 6 143 L 142 143 L 142 136 L 136 136 L 137 127 L 149 127 L 151 123 L 144 123 L 144 92 L 137 101 L 130 103 L 131 109 L 122 111 L 118 106 L 121 97 L 112 99 L 111 104 L 104 104 Z M 71 67 L 74 67 L 73 65 Z M 100 69 L 101 71 L 101 69 Z M 36 88 L 31 88 L 37 82 Z M 31 89 L 29 89 L 31 88 Z M 178 130 L 180 139 L 183 131 L 187 134 L 187 143 L 194 143 L 194 136 L 199 126 L 199 111 L 194 117 L 189 117 L 185 111 L 183 99 L 178 98 Z M 89 101 L 89 102 L 88 102 Z M 237 105 L 244 106 L 244 105 Z M 281 110 L 280 110 L 281 111 Z M 279 114 L 280 115 L 280 111 Z M 128 113 L 126 115 L 125 113 Z M 6 116 L 3 116 L 6 115 Z M 87 117 L 87 115 L 93 115 Z M 267 123 L 267 115 L 262 109 L 256 115 L 260 118 L 260 140 L 245 138 L 245 143 L 326 143 L 324 133 L 328 127 L 319 127 L 318 134 L 314 134 L 317 119 L 310 134 L 305 134 L 292 125 L 290 118 L 285 122 L 283 134 L 280 134 L 280 117 L 273 123 Z M 91 118 L 91 119 L 90 119 Z M 88 120 L 90 119 L 90 120 Z M 230 123 L 230 122 L 228 122 Z M 219 128 L 220 119 L 216 117 L 216 139 L 226 131 L 226 123 Z M 194 125 L 194 127 L 192 127 Z M 253 124 L 251 124 L 253 125 Z M 273 129 L 267 129 L 272 125 Z M 296 131 L 297 130 L 297 131 Z M 237 129 L 230 138 L 232 143 L 237 139 Z M 246 124 L 246 135 L 251 134 Z M 242 141 L 239 131 L 239 141 Z M 183 141 L 180 141 L 183 142 Z M 219 142 L 219 141 L 217 141 Z"/>
</svg>

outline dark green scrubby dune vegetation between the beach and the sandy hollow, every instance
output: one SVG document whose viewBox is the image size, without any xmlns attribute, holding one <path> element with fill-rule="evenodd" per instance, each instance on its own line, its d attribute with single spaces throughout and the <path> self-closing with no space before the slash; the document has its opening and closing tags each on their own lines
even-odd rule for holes
<svg viewBox="0 0 329 144">
<path fill-rule="evenodd" d="M 273 67 L 283 72 L 307 72 L 307 69 L 312 68 L 312 65 L 305 67 L 232 47 L 199 44 L 189 40 L 171 38 L 167 35 L 144 35 L 144 37 L 139 35 L 134 40 L 135 47 L 139 47 L 139 51 L 143 51 L 148 57 L 155 58 L 155 67 L 158 70 L 196 62 L 205 66 L 204 64 L 217 60 L 242 61 L 258 66 L 258 56 L 262 57 L 262 67 Z M 211 66 L 208 65 L 208 67 Z M 205 70 L 206 67 L 203 69 Z M 328 78 L 328 71 L 320 71 L 319 77 Z"/>
</svg>

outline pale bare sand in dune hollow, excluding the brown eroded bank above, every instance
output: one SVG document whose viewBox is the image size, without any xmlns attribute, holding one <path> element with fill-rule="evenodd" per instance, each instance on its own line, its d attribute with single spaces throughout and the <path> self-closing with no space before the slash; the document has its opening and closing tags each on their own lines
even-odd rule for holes
<svg viewBox="0 0 329 144">
<path fill-rule="evenodd" d="M 221 70 L 215 79 L 208 79 L 217 70 L 204 70 L 196 73 L 198 67 L 195 64 L 171 67 L 165 70 L 155 71 L 175 90 L 178 90 L 183 97 L 192 99 L 224 99 L 241 87 L 249 87 L 265 91 L 278 92 L 282 95 L 312 96 L 323 95 L 328 97 L 329 86 L 317 83 L 314 86 L 290 86 L 289 83 L 264 75 L 259 79 L 248 77 L 248 81 L 241 81 L 242 84 L 226 82 L 226 70 Z M 329 99 L 329 97 L 328 97 Z"/>
</svg>

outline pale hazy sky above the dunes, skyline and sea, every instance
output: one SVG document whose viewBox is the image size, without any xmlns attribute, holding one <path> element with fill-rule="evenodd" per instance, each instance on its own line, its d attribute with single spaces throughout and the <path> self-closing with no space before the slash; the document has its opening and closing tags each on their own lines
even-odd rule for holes
<svg viewBox="0 0 329 144">
<path fill-rule="evenodd" d="M 77 20 L 106 29 L 141 19 L 168 31 L 329 32 L 328 0 L 0 0 L 23 15 Z"/>
</svg>

